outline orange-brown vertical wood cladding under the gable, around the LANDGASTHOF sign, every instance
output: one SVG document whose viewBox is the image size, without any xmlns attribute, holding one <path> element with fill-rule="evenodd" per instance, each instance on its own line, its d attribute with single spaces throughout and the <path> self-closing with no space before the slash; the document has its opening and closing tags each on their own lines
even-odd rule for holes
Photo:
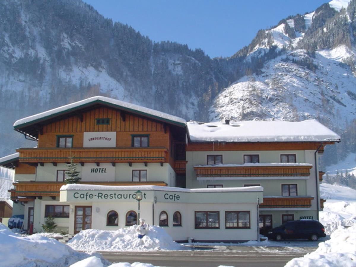
<svg viewBox="0 0 356 267">
<path fill-rule="evenodd" d="M 98 108 L 83 112 L 80 116 L 71 116 L 43 126 L 43 135 L 39 136 L 38 147 L 56 147 L 57 135 L 73 135 L 73 147 L 83 147 L 84 132 L 117 132 L 116 146 L 131 147 L 131 135 L 150 135 L 150 147 L 169 148 L 169 125 L 145 119 L 132 114 L 121 114 L 110 108 Z M 97 125 L 96 119 L 109 118 L 109 125 Z"/>
</svg>

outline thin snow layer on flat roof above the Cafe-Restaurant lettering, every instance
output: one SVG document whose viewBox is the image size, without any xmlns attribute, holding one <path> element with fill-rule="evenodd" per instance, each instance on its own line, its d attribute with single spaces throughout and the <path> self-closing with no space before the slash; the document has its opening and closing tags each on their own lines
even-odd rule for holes
<svg viewBox="0 0 356 267">
<path fill-rule="evenodd" d="M 156 191 L 173 191 L 173 192 L 263 192 L 261 186 L 251 187 L 225 187 L 225 188 L 180 188 L 166 187 L 159 185 L 93 185 L 93 184 L 65 184 L 62 185 L 61 191 L 64 190 L 156 190 Z"/>
</svg>

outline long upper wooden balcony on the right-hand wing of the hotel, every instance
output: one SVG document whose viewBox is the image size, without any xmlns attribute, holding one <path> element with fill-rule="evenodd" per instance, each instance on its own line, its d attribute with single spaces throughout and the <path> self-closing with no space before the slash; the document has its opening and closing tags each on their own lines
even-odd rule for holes
<svg viewBox="0 0 356 267">
<path fill-rule="evenodd" d="M 313 166 L 194 166 L 199 177 L 276 177 L 276 176 L 309 176 Z"/>
</svg>

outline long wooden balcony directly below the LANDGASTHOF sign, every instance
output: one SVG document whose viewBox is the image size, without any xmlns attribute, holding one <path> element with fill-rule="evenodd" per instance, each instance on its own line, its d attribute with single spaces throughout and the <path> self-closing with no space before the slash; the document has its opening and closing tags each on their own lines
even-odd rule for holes
<svg viewBox="0 0 356 267">
<path fill-rule="evenodd" d="M 168 162 L 167 148 L 20 148 L 19 161 L 26 163 L 68 162 Z"/>
</svg>

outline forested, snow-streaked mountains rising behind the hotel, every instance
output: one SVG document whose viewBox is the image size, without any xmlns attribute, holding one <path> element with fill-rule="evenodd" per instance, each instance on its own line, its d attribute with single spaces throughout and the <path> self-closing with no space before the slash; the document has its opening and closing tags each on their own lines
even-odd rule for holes
<svg viewBox="0 0 356 267">
<path fill-rule="evenodd" d="M 15 120 L 105 95 L 188 120 L 315 118 L 343 137 L 325 153 L 336 163 L 356 152 L 355 14 L 356 0 L 333 0 L 211 59 L 152 42 L 80 0 L 3 0 L 0 155 L 34 145 L 14 134 Z"/>
</svg>

